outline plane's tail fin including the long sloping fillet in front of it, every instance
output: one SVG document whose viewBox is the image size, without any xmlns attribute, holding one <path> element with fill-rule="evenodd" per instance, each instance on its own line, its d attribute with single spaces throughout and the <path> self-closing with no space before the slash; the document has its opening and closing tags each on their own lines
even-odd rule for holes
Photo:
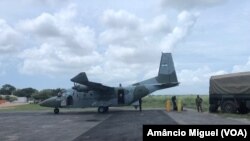
<svg viewBox="0 0 250 141">
<path fill-rule="evenodd" d="M 161 55 L 161 62 L 159 67 L 158 76 L 135 83 L 133 85 L 140 85 L 140 84 L 170 84 L 170 85 L 178 85 L 179 82 L 177 80 L 174 62 L 171 53 L 162 53 Z"/>
</svg>

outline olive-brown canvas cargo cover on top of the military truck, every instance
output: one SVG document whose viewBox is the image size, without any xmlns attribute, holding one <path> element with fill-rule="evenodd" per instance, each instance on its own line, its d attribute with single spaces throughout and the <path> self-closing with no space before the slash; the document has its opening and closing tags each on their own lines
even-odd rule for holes
<svg viewBox="0 0 250 141">
<path fill-rule="evenodd" d="M 211 76 L 209 94 L 250 94 L 250 72 Z"/>
</svg>

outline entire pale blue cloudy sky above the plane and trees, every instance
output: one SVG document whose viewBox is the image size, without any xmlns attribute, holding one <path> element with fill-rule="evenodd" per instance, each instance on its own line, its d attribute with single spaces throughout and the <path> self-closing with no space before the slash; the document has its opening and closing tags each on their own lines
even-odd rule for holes
<svg viewBox="0 0 250 141">
<path fill-rule="evenodd" d="M 109 86 L 157 75 L 172 52 L 180 85 L 250 70 L 248 0 L 1 0 L 0 85 L 70 88 L 79 72 Z"/>
</svg>

